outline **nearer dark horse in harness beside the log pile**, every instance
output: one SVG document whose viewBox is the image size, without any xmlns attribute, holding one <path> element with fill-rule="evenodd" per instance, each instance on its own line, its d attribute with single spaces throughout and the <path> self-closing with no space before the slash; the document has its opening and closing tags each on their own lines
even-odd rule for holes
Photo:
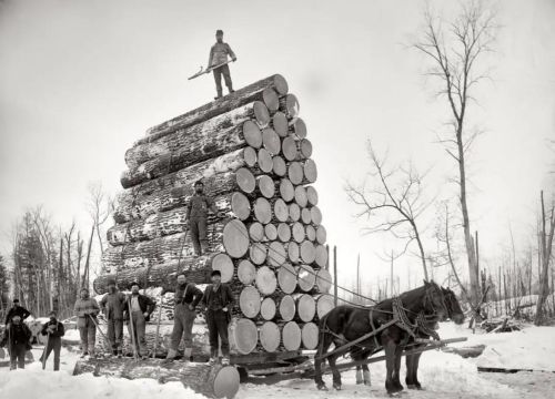
<svg viewBox="0 0 555 399">
<path fill-rule="evenodd" d="M 447 307 L 442 288 L 433 282 L 424 282 L 422 287 L 406 291 L 398 298 L 385 299 L 370 308 L 344 305 L 332 309 L 320 321 L 320 345 L 314 361 L 316 387 L 326 389 L 322 380 L 322 357 L 332 344 L 335 348 L 340 348 L 397 317 L 400 323 L 360 341 L 356 349 L 345 348 L 326 358 L 332 369 L 333 387 L 341 389 L 341 374 L 335 366 L 337 357 L 351 352 L 356 354 L 353 356 L 354 360 L 360 360 L 361 356 L 365 358 L 383 348 L 386 358 L 385 389 L 389 393 L 400 392 L 403 390 L 398 376 L 401 356 L 408 339 L 415 334 L 411 330 L 411 326 L 416 326 L 417 318 L 435 324 L 446 316 Z"/>
</svg>

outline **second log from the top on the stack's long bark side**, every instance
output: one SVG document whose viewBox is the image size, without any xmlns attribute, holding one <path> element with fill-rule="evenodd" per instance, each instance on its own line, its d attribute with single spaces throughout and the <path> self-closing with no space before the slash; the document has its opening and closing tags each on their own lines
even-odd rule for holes
<svg viewBox="0 0 555 399">
<path fill-rule="evenodd" d="M 250 121 L 251 119 L 253 121 Z M 137 168 L 145 162 L 174 155 L 181 150 L 190 147 L 194 141 L 213 141 L 212 137 L 218 135 L 219 132 L 244 127 L 243 124 L 248 121 L 251 124 L 254 124 L 255 121 L 259 125 L 266 126 L 269 123 L 266 106 L 260 101 L 254 101 L 218 115 L 204 123 L 180 129 L 172 134 L 152 140 L 149 143 L 134 145 L 125 152 L 125 163 L 130 168 Z M 260 147 L 262 141 L 260 131 L 255 135 L 250 135 L 250 133 L 252 131 L 245 130 L 244 132 L 246 144 Z"/>
</svg>

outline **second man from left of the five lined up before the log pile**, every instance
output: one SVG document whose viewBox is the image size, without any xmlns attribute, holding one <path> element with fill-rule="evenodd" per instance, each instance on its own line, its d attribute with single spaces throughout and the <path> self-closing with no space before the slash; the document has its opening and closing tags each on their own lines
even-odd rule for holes
<svg viewBox="0 0 555 399">
<path fill-rule="evenodd" d="M 100 308 L 108 320 L 108 339 L 112 347 L 112 355 L 122 357 L 123 341 L 123 308 L 125 295 L 118 290 L 115 280 L 108 282 L 108 294 L 100 300 Z"/>
</svg>

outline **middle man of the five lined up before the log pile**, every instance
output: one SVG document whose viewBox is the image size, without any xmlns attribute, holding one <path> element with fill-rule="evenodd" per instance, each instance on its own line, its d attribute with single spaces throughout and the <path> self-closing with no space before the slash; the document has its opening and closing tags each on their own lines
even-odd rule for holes
<svg viewBox="0 0 555 399">
<path fill-rule="evenodd" d="M 132 330 L 134 331 L 135 349 L 139 356 L 143 359 L 148 356 L 147 340 L 144 339 L 147 321 L 150 320 L 150 315 L 154 311 L 157 303 L 152 300 L 149 296 L 139 294 L 139 283 L 133 282 L 130 285 L 131 295 L 128 296 L 123 308 L 123 318 L 128 324 L 129 336 L 133 337 Z M 131 320 L 130 320 L 131 319 Z M 132 328 L 131 328 L 131 323 Z"/>
</svg>

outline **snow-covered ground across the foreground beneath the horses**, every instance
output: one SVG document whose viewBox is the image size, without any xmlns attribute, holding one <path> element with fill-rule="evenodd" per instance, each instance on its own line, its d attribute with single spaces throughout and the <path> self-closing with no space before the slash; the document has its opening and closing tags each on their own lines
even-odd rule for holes
<svg viewBox="0 0 555 399">
<path fill-rule="evenodd" d="M 555 327 L 527 327 L 523 331 L 505 334 L 472 335 L 464 326 L 443 324 L 442 338 L 468 337 L 458 346 L 485 345 L 483 355 L 475 359 L 463 359 L 458 355 L 427 351 L 421 359 L 420 380 L 422 391 L 405 390 L 402 398 L 553 398 L 555 391 Z M 34 349 L 36 359 L 41 350 Z M 72 377 L 78 355 L 62 349 L 61 371 L 53 372 L 52 358 L 42 371 L 36 361 L 26 370 L 8 372 L 0 368 L 1 398 L 17 399 L 85 399 L 85 398 L 202 398 L 179 382 L 159 385 L 155 380 L 123 380 L 105 377 Z M 538 370 L 517 374 L 481 374 L 476 367 L 504 367 Z M 355 385 L 354 371 L 343 372 L 343 390 L 316 391 L 312 380 L 291 380 L 275 385 L 245 383 L 241 386 L 240 399 L 291 399 L 296 398 L 387 398 L 384 389 L 384 364 L 370 366 L 372 387 Z M 539 370 L 545 370 L 544 372 Z M 402 376 L 404 379 L 404 365 Z M 331 386 L 331 376 L 324 376 Z"/>
</svg>

